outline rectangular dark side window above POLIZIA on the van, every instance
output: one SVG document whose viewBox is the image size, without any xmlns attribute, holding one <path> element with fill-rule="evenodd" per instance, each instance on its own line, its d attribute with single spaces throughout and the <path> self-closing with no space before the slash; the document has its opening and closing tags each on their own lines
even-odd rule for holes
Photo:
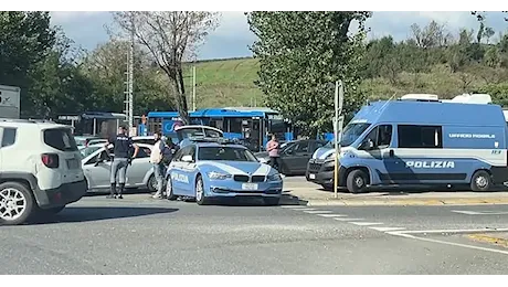
<svg viewBox="0 0 508 287">
<path fill-rule="evenodd" d="M 441 126 L 399 125 L 399 148 L 443 148 Z"/>
</svg>

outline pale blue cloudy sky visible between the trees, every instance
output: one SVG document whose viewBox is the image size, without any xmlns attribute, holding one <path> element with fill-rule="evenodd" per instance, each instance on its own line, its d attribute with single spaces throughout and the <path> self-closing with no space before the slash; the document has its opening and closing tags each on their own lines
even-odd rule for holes
<svg viewBox="0 0 508 287">
<path fill-rule="evenodd" d="M 248 30 L 245 11 L 229 9 L 220 12 L 220 24 L 199 47 L 198 59 L 251 56 L 248 45 L 255 41 L 255 35 Z M 55 9 L 51 13 L 52 24 L 60 25 L 67 38 L 83 49 L 92 51 L 109 39 L 105 25 L 112 24 L 113 19 L 107 10 Z M 494 28 L 496 34 L 507 31 L 508 22 L 504 21 L 506 14 L 495 10 L 486 14 L 486 24 Z M 401 41 L 411 35 L 411 24 L 424 26 L 432 20 L 445 24 L 453 33 L 458 33 L 461 28 L 478 28 L 476 18 L 468 10 L 458 9 L 373 10 L 366 25 L 370 28 L 369 39 L 392 35 L 395 41 Z M 351 29 L 354 30 L 354 26 Z"/>
</svg>

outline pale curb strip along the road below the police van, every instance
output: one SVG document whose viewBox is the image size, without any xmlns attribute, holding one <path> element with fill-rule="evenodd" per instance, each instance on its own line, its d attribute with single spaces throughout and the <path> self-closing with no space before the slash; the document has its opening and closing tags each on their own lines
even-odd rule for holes
<svg viewBox="0 0 508 287">
<path fill-rule="evenodd" d="M 299 199 L 303 205 L 309 206 L 438 206 L 438 205 L 481 205 L 481 204 L 508 204 L 508 198 L 504 199 L 488 199 L 488 198 L 476 198 L 476 199 L 411 199 L 411 200 L 391 200 L 391 199 L 379 199 L 379 200 L 347 200 L 347 199 L 326 199 L 326 200 L 313 200 L 313 199 Z M 306 202 L 306 203 L 305 203 Z"/>
</svg>

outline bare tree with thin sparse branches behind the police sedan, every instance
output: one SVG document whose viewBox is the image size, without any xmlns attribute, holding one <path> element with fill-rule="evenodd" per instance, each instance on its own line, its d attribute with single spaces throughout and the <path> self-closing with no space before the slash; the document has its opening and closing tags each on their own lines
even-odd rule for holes
<svg viewBox="0 0 508 287">
<path fill-rule="evenodd" d="M 168 76 L 182 121 L 189 124 L 182 62 L 195 59 L 199 44 L 219 23 L 219 13 L 187 10 L 137 10 L 112 12 L 121 32 L 135 39 L 154 56 Z"/>
</svg>

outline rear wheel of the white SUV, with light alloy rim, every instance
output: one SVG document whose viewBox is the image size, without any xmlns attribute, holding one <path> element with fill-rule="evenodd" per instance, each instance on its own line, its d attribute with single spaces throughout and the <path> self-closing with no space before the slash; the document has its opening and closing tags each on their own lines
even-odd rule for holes
<svg viewBox="0 0 508 287">
<path fill-rule="evenodd" d="M 0 224 L 19 225 L 24 223 L 34 210 L 34 200 L 32 192 L 28 187 L 19 182 L 4 182 L 0 184 L 0 193 L 3 195 L 0 199 Z M 18 199 L 18 201 L 12 201 Z M 24 206 L 21 206 L 18 214 L 7 216 L 7 209 L 14 208 L 17 203 L 24 201 Z"/>
</svg>

